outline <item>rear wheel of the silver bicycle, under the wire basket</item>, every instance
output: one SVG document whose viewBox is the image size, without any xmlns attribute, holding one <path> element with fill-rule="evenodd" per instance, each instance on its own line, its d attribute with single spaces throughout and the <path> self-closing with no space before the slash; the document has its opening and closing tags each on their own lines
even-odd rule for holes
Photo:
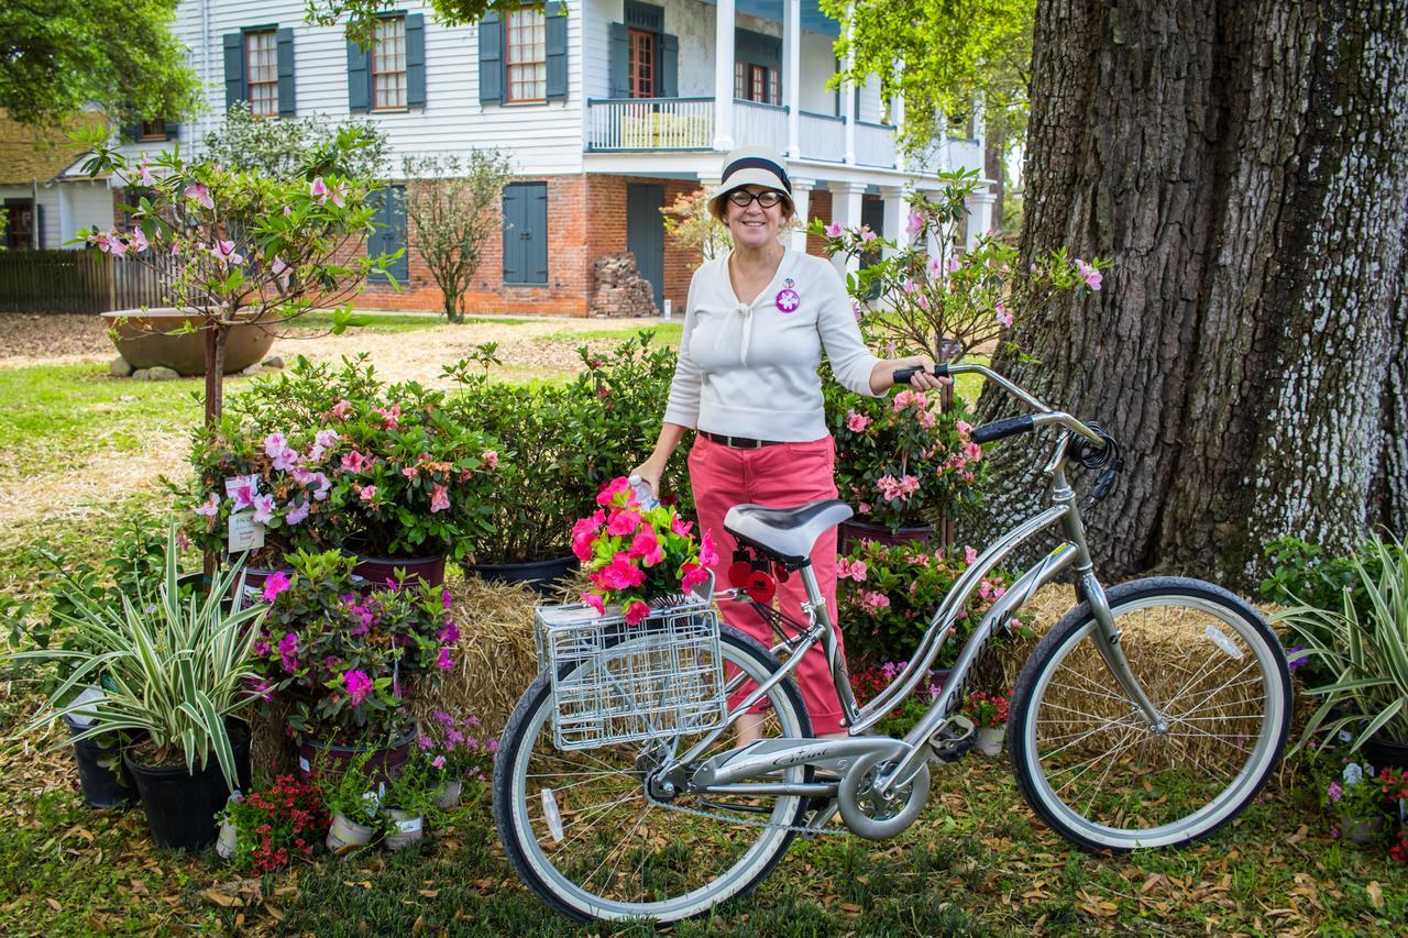
<svg viewBox="0 0 1408 938">
<path fill-rule="evenodd" d="M 721 627 L 725 673 L 752 692 L 781 665 L 750 637 Z M 811 737 L 807 706 L 791 677 L 763 697 L 763 737 Z M 670 804 L 645 797 L 643 776 L 659 745 L 683 753 L 703 734 L 560 751 L 553 745 L 548 675 L 528 687 L 500 741 L 494 765 L 494 820 L 520 877 L 549 907 L 593 918 L 674 921 L 752 890 L 773 870 L 801 824 L 805 799 L 680 794 Z M 725 730 L 701 755 L 735 746 Z M 777 780 L 803 782 L 794 766 Z M 729 823 L 729 818 L 734 823 Z M 765 827 L 773 824 L 779 827 Z"/>
</svg>

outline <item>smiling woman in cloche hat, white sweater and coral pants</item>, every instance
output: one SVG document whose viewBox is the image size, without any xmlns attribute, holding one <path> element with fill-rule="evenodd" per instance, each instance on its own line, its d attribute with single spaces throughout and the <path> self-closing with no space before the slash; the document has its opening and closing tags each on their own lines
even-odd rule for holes
<svg viewBox="0 0 1408 938">
<path fill-rule="evenodd" d="M 836 451 L 817 373 L 821 352 L 836 380 L 873 397 L 893 387 L 894 369 L 932 369 L 932 361 L 872 355 L 836 269 L 781 244 L 793 201 L 777 154 L 760 148 L 729 154 L 708 208 L 728 225 L 734 249 L 694 272 L 663 427 L 650 458 L 635 473 L 659 494 L 670 454 L 686 431 L 697 431 L 689 456 L 690 486 L 700 527 L 718 545 L 714 577 L 727 583 L 735 542 L 724 531 L 724 515 L 731 507 L 780 508 L 836 497 Z M 939 380 L 919 373 L 912 386 L 935 389 Z M 836 623 L 835 530 L 817 541 L 811 565 Z M 779 583 L 777 594 L 783 611 L 800 620 L 801 577 Z M 767 624 L 746 603 L 722 603 L 721 613 L 729 625 L 772 645 Z M 798 663 L 796 677 L 814 732 L 845 737 L 841 701 L 819 645 Z M 739 721 L 741 739 L 756 735 L 759 720 Z"/>
</svg>

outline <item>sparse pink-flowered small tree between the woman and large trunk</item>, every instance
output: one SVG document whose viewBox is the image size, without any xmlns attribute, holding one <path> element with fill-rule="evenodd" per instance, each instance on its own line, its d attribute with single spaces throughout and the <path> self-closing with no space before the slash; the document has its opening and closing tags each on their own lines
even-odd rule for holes
<svg viewBox="0 0 1408 938">
<path fill-rule="evenodd" d="M 872 345 L 955 362 L 1010 341 L 1022 318 L 1038 315 L 1060 293 L 1100 290 L 1104 261 L 1056 251 L 1022 270 L 1017 248 L 990 232 L 964 249 L 962 224 L 966 199 L 980 187 L 977 173 L 941 173 L 939 180 L 936 196 L 908 194 L 903 246 L 866 227 L 811 225 L 831 255 L 859 261 L 846 287 Z"/>
</svg>

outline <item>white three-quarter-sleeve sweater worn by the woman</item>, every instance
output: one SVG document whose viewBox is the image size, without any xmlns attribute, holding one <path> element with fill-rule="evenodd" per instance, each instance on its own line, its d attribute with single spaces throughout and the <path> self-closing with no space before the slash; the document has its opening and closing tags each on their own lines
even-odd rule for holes
<svg viewBox="0 0 1408 938">
<path fill-rule="evenodd" d="M 665 421 L 750 439 L 821 439 L 822 349 L 836 380 L 874 396 L 870 373 L 879 359 L 865 346 L 845 283 L 828 261 L 787 248 L 752 304 L 734 294 L 728 255 L 710 261 L 690 282 Z"/>
</svg>

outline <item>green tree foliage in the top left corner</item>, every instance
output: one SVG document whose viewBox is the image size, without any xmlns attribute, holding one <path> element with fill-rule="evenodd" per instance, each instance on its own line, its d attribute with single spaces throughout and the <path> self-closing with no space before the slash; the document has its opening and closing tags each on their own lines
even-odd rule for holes
<svg viewBox="0 0 1408 938">
<path fill-rule="evenodd" d="M 179 120 L 199 82 L 172 37 L 177 0 L 0 3 L 0 107 L 35 127 L 89 103 L 117 123 Z"/>
</svg>

